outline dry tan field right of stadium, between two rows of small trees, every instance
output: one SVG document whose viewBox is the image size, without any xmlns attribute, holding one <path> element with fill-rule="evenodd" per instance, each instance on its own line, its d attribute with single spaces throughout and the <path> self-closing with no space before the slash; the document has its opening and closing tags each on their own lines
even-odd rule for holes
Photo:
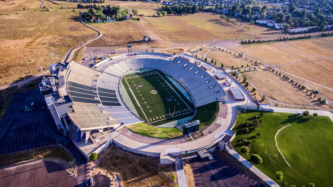
<svg viewBox="0 0 333 187">
<path fill-rule="evenodd" d="M 244 75 L 247 76 L 249 82 L 273 100 L 299 105 L 313 105 L 317 103 L 316 100 L 301 91 L 301 89 L 268 70 L 251 71 L 244 73 Z"/>
</svg>

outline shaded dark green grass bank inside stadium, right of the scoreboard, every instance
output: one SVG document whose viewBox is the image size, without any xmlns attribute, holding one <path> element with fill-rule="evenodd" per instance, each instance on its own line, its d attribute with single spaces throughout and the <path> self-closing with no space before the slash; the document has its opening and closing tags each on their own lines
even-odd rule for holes
<svg viewBox="0 0 333 187">
<path fill-rule="evenodd" d="M 193 117 L 192 121 L 199 120 L 199 131 L 203 131 L 209 125 L 211 125 L 219 111 L 219 102 L 212 102 L 206 104 L 204 106 L 200 106 L 196 108 L 196 114 Z"/>
</svg>

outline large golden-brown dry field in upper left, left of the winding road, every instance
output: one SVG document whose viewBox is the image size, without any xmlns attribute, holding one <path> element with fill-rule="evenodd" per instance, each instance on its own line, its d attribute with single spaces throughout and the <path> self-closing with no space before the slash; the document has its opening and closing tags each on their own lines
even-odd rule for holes
<svg viewBox="0 0 333 187">
<path fill-rule="evenodd" d="M 97 34 L 79 23 L 78 12 L 38 10 L 0 16 L 0 86 L 39 73 L 40 66 L 47 69 L 51 52 L 56 63 L 63 62 L 71 48 Z"/>
</svg>

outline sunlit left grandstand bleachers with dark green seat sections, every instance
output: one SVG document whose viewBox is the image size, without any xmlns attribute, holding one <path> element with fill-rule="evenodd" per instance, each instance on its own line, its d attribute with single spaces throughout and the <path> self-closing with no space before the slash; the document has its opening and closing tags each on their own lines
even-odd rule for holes
<svg viewBox="0 0 333 187">
<path fill-rule="evenodd" d="M 117 65 L 102 73 L 77 62 L 71 63 L 66 88 L 75 111 L 69 115 L 76 124 L 87 127 L 102 126 L 106 121 L 113 121 L 114 124 L 142 122 L 120 98 L 118 85 L 123 73 L 118 72 L 125 70 Z M 112 110 L 108 111 L 110 108 Z"/>
</svg>

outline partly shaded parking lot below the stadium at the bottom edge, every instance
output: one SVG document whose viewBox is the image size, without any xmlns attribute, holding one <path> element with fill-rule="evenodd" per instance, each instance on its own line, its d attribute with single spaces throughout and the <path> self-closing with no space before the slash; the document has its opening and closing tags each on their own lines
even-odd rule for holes
<svg viewBox="0 0 333 187">
<path fill-rule="evenodd" d="M 264 187 L 221 159 L 216 152 L 212 155 L 213 160 L 208 157 L 187 160 L 193 171 L 195 187 Z"/>
</svg>

